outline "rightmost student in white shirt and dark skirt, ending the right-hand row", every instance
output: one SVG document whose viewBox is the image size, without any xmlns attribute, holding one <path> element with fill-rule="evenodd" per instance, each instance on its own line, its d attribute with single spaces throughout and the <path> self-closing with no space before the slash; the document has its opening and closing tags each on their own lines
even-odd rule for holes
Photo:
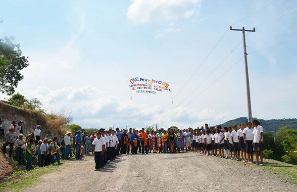
<svg viewBox="0 0 297 192">
<path fill-rule="evenodd" d="M 263 127 L 260 125 L 260 123 L 257 120 L 252 121 L 252 125 L 254 127 L 253 129 L 253 150 L 256 154 L 256 163 L 255 165 L 259 165 L 259 155 L 261 163 L 260 165 L 263 165 Z"/>
</svg>

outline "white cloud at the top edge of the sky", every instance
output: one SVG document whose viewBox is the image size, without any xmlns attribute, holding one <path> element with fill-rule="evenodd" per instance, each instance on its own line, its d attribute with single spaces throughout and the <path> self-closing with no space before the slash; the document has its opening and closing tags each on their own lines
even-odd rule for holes
<svg viewBox="0 0 297 192">
<path fill-rule="evenodd" d="M 128 20 L 133 23 L 170 21 L 193 16 L 201 0 L 133 0 L 128 8 Z"/>
</svg>

